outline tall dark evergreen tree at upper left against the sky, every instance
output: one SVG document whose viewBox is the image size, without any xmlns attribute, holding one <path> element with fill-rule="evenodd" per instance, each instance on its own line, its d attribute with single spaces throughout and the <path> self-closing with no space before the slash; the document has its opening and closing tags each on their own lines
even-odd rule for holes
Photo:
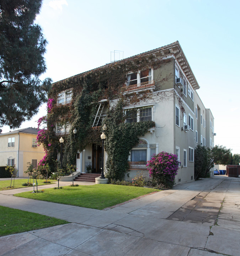
<svg viewBox="0 0 240 256">
<path fill-rule="evenodd" d="M 50 79 L 43 54 L 47 44 L 34 24 L 42 0 L 0 0 L 0 126 L 17 128 L 47 100 Z"/>
</svg>

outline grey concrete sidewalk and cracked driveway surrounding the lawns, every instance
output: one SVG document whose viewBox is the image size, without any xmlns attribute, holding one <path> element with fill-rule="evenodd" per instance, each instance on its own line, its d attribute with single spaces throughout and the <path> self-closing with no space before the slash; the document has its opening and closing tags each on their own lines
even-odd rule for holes
<svg viewBox="0 0 240 256">
<path fill-rule="evenodd" d="M 107 210 L 13 197 L 4 191 L 0 205 L 71 222 L 3 236 L 0 255 L 238 256 L 240 251 L 239 178 L 214 176 Z"/>
</svg>

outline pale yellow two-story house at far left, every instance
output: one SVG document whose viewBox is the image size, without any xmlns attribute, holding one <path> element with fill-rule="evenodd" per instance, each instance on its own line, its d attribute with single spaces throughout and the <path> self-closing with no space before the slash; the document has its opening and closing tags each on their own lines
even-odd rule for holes
<svg viewBox="0 0 240 256">
<path fill-rule="evenodd" d="M 0 134 L 0 166 L 15 165 L 18 177 L 27 177 L 27 162 L 34 167 L 45 155 L 43 146 L 37 145 L 36 128 L 25 128 Z"/>
</svg>

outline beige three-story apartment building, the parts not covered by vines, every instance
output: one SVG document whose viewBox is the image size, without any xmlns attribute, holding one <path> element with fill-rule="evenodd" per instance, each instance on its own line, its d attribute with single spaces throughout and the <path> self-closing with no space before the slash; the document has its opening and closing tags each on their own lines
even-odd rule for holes
<svg viewBox="0 0 240 256">
<path fill-rule="evenodd" d="M 154 66 L 154 60 L 156 62 L 162 60 L 162 63 Z M 146 62 L 146 66 L 133 73 L 130 68 L 127 69 L 131 62 L 133 64 Z M 126 65 L 126 72 L 124 70 L 126 80 L 115 95 L 105 96 L 97 103 L 96 113 L 92 117 L 92 128 L 97 129 L 104 124 L 107 109 L 118 101 L 119 94 L 126 96 L 129 102 L 131 98 L 139 97 L 139 101 L 123 107 L 126 114 L 125 122 L 145 120 L 155 122 L 155 127 L 140 137 L 140 143 L 129 152 L 129 170 L 125 180 L 132 180 L 137 171 L 144 171 L 147 174 L 146 162 L 151 156 L 167 151 L 176 154 L 181 162 L 175 178 L 176 184 L 194 181 L 194 148 L 198 144 L 210 148 L 214 146 L 214 118 L 197 94 L 198 82 L 179 42 L 56 82 L 53 86 L 61 85 L 65 88 L 55 95 L 57 106 L 63 108 L 62 105 L 74 102 L 72 92 L 76 94 L 78 79 L 84 78 L 85 75 L 97 77 L 98 73 L 107 70 L 106 74 L 110 79 L 111 65 L 116 69 Z M 111 84 L 105 86 L 105 90 L 111 88 Z M 145 94 L 148 94 L 147 100 L 141 98 Z M 59 138 L 71 132 L 68 123 L 61 126 L 56 123 L 54 126 Z M 85 172 L 86 166 L 91 165 L 94 172 L 99 172 L 101 152 L 101 146 L 95 144 L 89 144 L 81 152 L 76 152 L 78 171 Z M 106 163 L 107 154 L 104 159 Z"/>
</svg>

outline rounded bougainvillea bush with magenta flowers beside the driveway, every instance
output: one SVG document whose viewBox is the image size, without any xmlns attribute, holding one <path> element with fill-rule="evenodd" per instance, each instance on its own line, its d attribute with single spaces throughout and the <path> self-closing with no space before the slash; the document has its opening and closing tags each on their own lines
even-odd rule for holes
<svg viewBox="0 0 240 256">
<path fill-rule="evenodd" d="M 167 152 L 154 155 L 147 163 L 150 177 L 162 188 L 172 188 L 178 170 L 177 156 Z"/>
</svg>

